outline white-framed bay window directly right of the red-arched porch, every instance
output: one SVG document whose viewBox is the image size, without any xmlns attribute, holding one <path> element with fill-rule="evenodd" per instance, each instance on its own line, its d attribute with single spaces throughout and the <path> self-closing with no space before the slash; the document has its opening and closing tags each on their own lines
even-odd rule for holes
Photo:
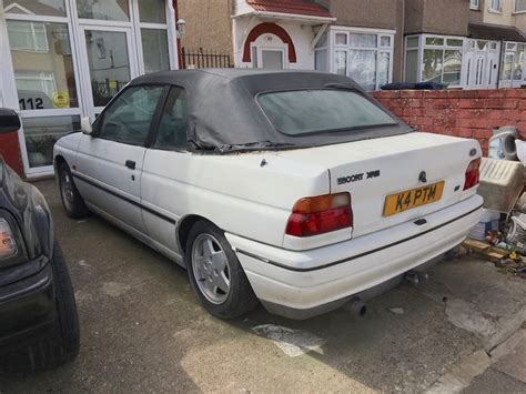
<svg viewBox="0 0 526 394">
<path fill-rule="evenodd" d="M 330 69 L 365 90 L 380 90 L 393 79 L 393 41 L 392 31 L 332 28 Z"/>
</svg>

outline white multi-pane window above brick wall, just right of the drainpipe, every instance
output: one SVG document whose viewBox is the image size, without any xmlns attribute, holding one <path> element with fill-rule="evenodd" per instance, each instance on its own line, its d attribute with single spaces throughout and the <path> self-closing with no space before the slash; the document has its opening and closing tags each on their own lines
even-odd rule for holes
<svg viewBox="0 0 526 394">
<path fill-rule="evenodd" d="M 405 38 L 405 82 L 436 82 L 462 87 L 463 37 L 408 36 Z"/>
</svg>

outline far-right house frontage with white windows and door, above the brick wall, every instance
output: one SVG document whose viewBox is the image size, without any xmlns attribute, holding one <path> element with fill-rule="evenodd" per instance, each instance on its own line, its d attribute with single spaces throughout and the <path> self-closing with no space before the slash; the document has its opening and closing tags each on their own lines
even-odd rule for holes
<svg viewBox="0 0 526 394">
<path fill-rule="evenodd" d="M 526 34 L 517 20 L 526 3 L 514 1 L 406 0 L 404 80 L 463 89 L 520 87 Z"/>
</svg>

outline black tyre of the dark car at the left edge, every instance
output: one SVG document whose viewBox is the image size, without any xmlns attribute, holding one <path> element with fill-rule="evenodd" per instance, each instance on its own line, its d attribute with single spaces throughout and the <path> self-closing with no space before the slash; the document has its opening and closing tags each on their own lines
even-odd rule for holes
<svg viewBox="0 0 526 394">
<path fill-rule="evenodd" d="M 53 273 L 57 324 L 49 335 L 14 351 L 8 357 L 8 371 L 45 371 L 71 362 L 79 354 L 80 330 L 74 292 L 62 250 L 57 241 L 49 264 Z"/>
</svg>

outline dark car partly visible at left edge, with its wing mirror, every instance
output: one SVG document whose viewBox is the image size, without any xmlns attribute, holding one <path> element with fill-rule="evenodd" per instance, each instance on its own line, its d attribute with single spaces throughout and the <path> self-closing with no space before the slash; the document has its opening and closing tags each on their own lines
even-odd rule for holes
<svg viewBox="0 0 526 394">
<path fill-rule="evenodd" d="M 0 134 L 17 131 L 0 109 Z M 73 287 L 45 199 L 0 155 L 0 371 L 37 371 L 73 360 L 79 321 Z"/>
</svg>

